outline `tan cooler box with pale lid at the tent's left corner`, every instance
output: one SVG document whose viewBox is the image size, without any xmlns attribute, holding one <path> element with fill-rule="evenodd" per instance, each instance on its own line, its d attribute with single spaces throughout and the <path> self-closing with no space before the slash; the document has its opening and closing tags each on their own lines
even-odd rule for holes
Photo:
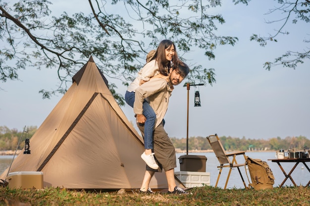
<svg viewBox="0 0 310 206">
<path fill-rule="evenodd" d="M 8 188 L 43 189 L 43 172 L 10 172 Z"/>
</svg>

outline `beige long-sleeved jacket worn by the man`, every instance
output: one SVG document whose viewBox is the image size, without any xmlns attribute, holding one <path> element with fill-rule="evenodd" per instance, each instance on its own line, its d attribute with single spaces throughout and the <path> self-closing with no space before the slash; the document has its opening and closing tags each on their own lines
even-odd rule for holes
<svg viewBox="0 0 310 206">
<path fill-rule="evenodd" d="M 156 128 L 166 114 L 171 92 L 170 82 L 162 78 L 151 78 L 150 81 L 145 82 L 136 89 L 134 103 L 135 114 L 142 114 L 143 101 L 148 98 L 156 114 Z"/>
</svg>

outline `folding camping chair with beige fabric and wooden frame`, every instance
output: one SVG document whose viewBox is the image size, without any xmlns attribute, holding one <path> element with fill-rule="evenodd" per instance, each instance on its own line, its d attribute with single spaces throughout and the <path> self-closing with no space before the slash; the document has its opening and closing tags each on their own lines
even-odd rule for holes
<svg viewBox="0 0 310 206">
<path fill-rule="evenodd" d="M 215 153 L 215 156 L 217 157 L 217 160 L 220 163 L 220 166 L 217 166 L 217 168 L 219 168 L 219 173 L 218 173 L 218 176 L 217 176 L 215 187 L 217 186 L 217 183 L 218 183 L 218 180 L 219 180 L 219 177 L 221 175 L 221 172 L 222 172 L 223 168 L 229 168 L 229 172 L 228 172 L 228 176 L 227 176 L 227 179 L 226 179 L 226 183 L 225 183 L 224 189 L 226 189 L 226 186 L 227 186 L 227 183 L 228 183 L 228 179 L 229 179 L 231 170 L 233 168 L 237 168 L 238 171 L 239 171 L 239 174 L 241 176 L 242 182 L 243 182 L 245 188 L 247 189 L 248 187 L 247 187 L 246 183 L 244 182 L 243 176 L 242 176 L 242 174 L 240 172 L 240 169 L 239 169 L 239 167 L 245 167 L 246 164 L 247 164 L 246 163 L 245 151 L 226 154 L 225 150 L 224 150 L 224 147 L 223 147 L 222 143 L 220 142 L 220 140 L 219 140 L 219 138 L 218 138 L 218 136 L 216 134 L 215 135 L 210 135 L 209 137 L 207 137 L 207 140 L 208 140 L 210 146 L 212 147 L 212 149 L 213 149 L 213 151 Z M 243 157 L 245 159 L 243 164 L 238 164 L 237 163 L 236 158 L 237 158 L 238 155 L 243 155 Z M 232 157 L 232 161 L 230 161 L 231 157 Z"/>
</svg>

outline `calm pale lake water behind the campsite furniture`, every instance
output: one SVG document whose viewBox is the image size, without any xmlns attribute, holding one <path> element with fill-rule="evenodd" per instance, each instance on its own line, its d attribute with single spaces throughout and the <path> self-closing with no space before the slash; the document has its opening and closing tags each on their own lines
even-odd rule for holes
<svg viewBox="0 0 310 206">
<path fill-rule="evenodd" d="M 186 153 L 177 153 L 176 154 L 176 158 L 177 158 L 177 168 L 175 169 L 175 172 L 180 171 L 180 164 L 179 164 L 179 157 L 181 155 L 185 155 Z M 277 163 L 273 163 L 271 161 L 268 161 L 268 159 L 275 159 L 274 156 L 275 152 L 246 152 L 246 155 L 251 157 L 251 158 L 255 158 L 255 159 L 261 159 L 262 161 L 265 161 L 268 163 L 270 169 L 273 172 L 273 175 L 275 177 L 275 183 L 274 183 L 274 187 L 278 187 L 282 181 L 284 180 L 284 174 L 283 172 L 280 170 L 279 166 L 277 165 Z M 217 169 L 217 166 L 219 166 L 219 162 L 215 157 L 215 154 L 212 152 L 207 152 L 207 153 L 189 153 L 189 155 L 204 155 L 207 157 L 207 162 L 206 162 L 206 172 L 210 172 L 210 185 L 214 186 L 216 179 L 217 179 L 217 175 L 219 170 Z M 0 174 L 10 166 L 11 162 L 12 162 L 12 158 L 13 155 L 8 155 L 8 156 L 0 156 Z M 243 163 L 244 159 L 237 159 L 238 163 Z M 294 166 L 295 163 L 282 163 L 282 167 L 285 170 L 286 173 L 288 173 L 292 167 Z M 306 163 L 308 164 L 308 167 L 310 167 L 310 162 Z M 240 168 L 241 173 L 243 175 L 243 178 L 246 182 L 246 184 L 248 184 L 248 178 L 245 172 L 244 168 Z M 227 173 L 228 173 L 229 169 L 228 168 L 224 168 L 222 170 L 222 174 L 221 174 L 221 178 L 219 180 L 218 183 L 218 187 L 223 188 L 225 185 L 225 181 L 226 181 L 226 177 L 227 177 Z M 249 178 L 250 177 L 250 173 L 248 172 Z M 297 168 L 294 170 L 294 172 L 291 174 L 295 183 L 297 185 L 306 185 L 309 180 L 310 180 L 310 172 L 308 172 L 307 168 L 304 166 L 304 164 L 299 163 L 299 165 L 297 166 Z M 286 180 L 286 182 L 284 183 L 284 185 L 286 186 L 293 186 L 292 181 L 288 178 Z M 239 175 L 239 172 L 237 169 L 233 169 L 231 174 L 230 174 L 230 178 L 227 184 L 227 188 L 244 188 L 244 185 L 242 183 L 241 177 Z"/>
</svg>

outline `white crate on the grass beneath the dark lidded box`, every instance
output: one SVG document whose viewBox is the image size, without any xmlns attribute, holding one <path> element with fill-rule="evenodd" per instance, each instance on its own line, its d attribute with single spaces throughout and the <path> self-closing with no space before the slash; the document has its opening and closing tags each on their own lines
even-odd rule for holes
<svg viewBox="0 0 310 206">
<path fill-rule="evenodd" d="M 210 172 L 186 172 L 174 173 L 187 188 L 210 186 Z"/>
</svg>

